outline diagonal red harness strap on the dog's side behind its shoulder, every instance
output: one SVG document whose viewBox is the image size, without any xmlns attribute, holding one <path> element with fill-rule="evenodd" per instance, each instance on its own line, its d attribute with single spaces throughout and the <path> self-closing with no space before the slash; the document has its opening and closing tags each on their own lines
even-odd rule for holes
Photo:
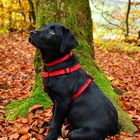
<svg viewBox="0 0 140 140">
<path fill-rule="evenodd" d="M 73 94 L 72 100 L 75 100 L 78 96 L 80 96 L 91 82 L 92 82 L 91 78 L 87 79 L 85 84 L 76 93 Z"/>
</svg>

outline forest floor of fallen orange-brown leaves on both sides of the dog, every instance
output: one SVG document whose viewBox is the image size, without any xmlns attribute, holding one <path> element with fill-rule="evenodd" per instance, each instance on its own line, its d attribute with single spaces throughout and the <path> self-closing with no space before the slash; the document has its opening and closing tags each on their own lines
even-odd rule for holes
<svg viewBox="0 0 140 140">
<path fill-rule="evenodd" d="M 30 97 L 34 81 L 34 47 L 27 34 L 0 35 L 0 140 L 42 140 L 48 128 L 41 128 L 51 118 L 51 107 L 30 108 L 26 118 L 5 121 L 4 107 L 14 99 Z M 125 47 L 125 46 L 124 46 Z M 127 53 L 95 48 L 96 60 L 113 85 L 123 91 L 119 95 L 123 109 L 138 127 L 135 135 L 121 133 L 113 140 L 140 140 L 140 52 Z"/>
</svg>

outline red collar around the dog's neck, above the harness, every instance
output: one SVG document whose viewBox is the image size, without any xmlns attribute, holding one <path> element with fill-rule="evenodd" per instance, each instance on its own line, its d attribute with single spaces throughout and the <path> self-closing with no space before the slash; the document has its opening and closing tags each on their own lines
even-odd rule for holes
<svg viewBox="0 0 140 140">
<path fill-rule="evenodd" d="M 45 64 L 45 65 L 48 66 L 48 67 L 54 66 L 54 65 L 56 65 L 56 64 L 59 64 L 59 63 L 65 61 L 65 60 L 67 60 L 67 59 L 70 58 L 71 56 L 72 56 L 72 52 L 70 52 L 69 54 L 65 55 L 64 57 L 62 57 L 62 58 L 60 58 L 60 59 L 57 59 L 57 60 L 55 60 L 55 61 L 53 61 L 53 62 L 50 62 L 50 63 L 47 63 L 47 64 Z"/>
</svg>

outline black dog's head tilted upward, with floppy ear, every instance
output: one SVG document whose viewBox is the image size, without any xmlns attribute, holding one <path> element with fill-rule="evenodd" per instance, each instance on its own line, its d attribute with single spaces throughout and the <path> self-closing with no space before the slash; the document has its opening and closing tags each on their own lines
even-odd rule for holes
<svg viewBox="0 0 140 140">
<path fill-rule="evenodd" d="M 71 31 L 57 23 L 49 23 L 39 30 L 30 32 L 29 42 L 44 51 L 69 52 L 77 46 L 77 40 Z"/>
</svg>

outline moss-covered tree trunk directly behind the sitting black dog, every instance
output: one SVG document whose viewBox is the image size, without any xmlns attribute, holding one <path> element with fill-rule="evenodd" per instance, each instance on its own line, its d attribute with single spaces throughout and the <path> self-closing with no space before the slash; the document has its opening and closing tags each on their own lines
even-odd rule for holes
<svg viewBox="0 0 140 140">
<path fill-rule="evenodd" d="M 92 45 L 92 20 L 88 0 L 39 0 L 37 3 L 36 16 L 37 28 L 42 27 L 48 22 L 58 22 L 67 26 L 74 32 L 79 41 L 79 46 L 75 52 L 80 57 L 81 65 L 94 77 L 96 84 L 118 110 L 121 130 L 131 134 L 134 133 L 136 127 L 121 108 L 118 96 L 113 91 L 109 81 L 96 67 L 94 47 Z M 50 100 L 42 92 L 42 63 L 38 50 L 35 54 L 34 64 L 36 79 L 32 89 L 32 96 L 29 99 L 29 101 L 31 100 L 30 105 L 40 103 L 44 107 L 47 107 L 50 105 Z"/>
</svg>

